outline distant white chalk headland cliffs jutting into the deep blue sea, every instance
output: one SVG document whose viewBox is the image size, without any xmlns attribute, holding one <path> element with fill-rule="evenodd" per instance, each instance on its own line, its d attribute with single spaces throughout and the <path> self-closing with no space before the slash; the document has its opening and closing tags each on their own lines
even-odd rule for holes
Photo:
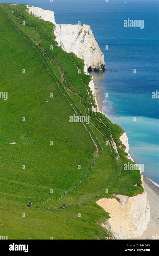
<svg viewBox="0 0 159 256">
<path fill-rule="evenodd" d="M 104 54 L 94 38 L 88 25 L 58 25 L 55 22 L 54 12 L 39 7 L 26 6 L 29 14 L 55 25 L 55 36 L 58 45 L 66 52 L 73 52 L 78 58 L 84 59 L 85 67 L 105 69 Z M 86 72 L 86 71 L 85 71 Z"/>
</svg>

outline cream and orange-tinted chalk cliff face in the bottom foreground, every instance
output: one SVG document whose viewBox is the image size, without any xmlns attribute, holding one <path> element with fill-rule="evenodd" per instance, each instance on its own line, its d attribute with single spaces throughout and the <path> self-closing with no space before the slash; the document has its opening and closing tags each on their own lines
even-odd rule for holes
<svg viewBox="0 0 159 256">
<path fill-rule="evenodd" d="M 115 239 L 141 236 L 150 220 L 146 191 L 134 197 L 124 195 L 116 195 L 116 197 L 120 202 L 115 198 L 102 198 L 97 201 L 97 204 L 110 215 L 110 219 L 101 226 L 110 231 Z"/>
</svg>

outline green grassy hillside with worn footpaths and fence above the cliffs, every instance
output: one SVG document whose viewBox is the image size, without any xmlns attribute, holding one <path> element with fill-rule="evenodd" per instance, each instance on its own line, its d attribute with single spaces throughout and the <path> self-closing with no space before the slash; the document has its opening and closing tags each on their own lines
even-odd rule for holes
<svg viewBox="0 0 159 256">
<path fill-rule="evenodd" d="M 83 60 L 57 46 L 52 23 L 29 15 L 24 5 L 0 4 L 0 15 L 0 91 L 8 92 L 7 101 L 0 99 L 0 235 L 111 237 L 100 226 L 109 214 L 96 201 L 143 191 L 140 172 L 123 170 L 129 162 L 119 147 L 123 130 L 92 112 L 91 77 Z M 76 113 L 89 115 L 90 124 L 69 122 Z"/>
</svg>

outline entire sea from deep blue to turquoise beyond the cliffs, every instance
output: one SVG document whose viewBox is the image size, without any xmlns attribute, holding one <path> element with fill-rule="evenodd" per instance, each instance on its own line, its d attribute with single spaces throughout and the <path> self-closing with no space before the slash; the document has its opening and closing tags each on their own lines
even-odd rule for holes
<svg viewBox="0 0 159 256">
<path fill-rule="evenodd" d="M 144 163 L 143 175 L 159 184 L 159 6 L 157 0 L 4 0 L 50 9 L 57 24 L 88 24 L 104 53 L 106 68 L 92 72 L 103 113 L 127 133 L 129 153 Z M 124 27 L 144 20 L 144 29 Z M 106 50 L 108 45 L 108 50 Z M 136 69 L 136 74 L 133 70 Z M 108 93 L 108 98 L 105 94 Z M 136 121 L 133 118 L 136 117 Z"/>
</svg>

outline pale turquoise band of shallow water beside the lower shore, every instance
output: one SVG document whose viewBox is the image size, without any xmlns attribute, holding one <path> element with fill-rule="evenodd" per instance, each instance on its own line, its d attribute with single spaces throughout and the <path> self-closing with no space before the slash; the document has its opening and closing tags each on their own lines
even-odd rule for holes
<svg viewBox="0 0 159 256">
<path fill-rule="evenodd" d="M 154 135 L 158 134 L 158 120 L 147 117 L 109 116 L 113 123 L 119 124 L 126 131 L 129 140 L 129 153 L 136 163 L 144 163 L 143 175 L 158 183 L 158 151 Z"/>
</svg>

